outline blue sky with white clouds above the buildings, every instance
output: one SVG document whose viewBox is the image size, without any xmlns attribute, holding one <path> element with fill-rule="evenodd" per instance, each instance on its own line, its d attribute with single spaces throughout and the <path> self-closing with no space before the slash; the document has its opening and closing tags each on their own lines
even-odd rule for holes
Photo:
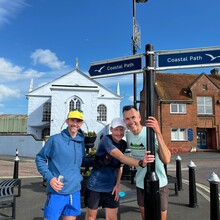
<svg viewBox="0 0 220 220">
<path fill-rule="evenodd" d="M 155 51 L 220 45 L 219 0 L 149 0 L 136 6 L 138 54 L 149 43 Z M 131 36 L 132 0 L 0 0 L 0 113 L 27 114 L 31 79 L 36 88 L 60 77 L 75 68 L 76 58 L 88 73 L 94 61 L 132 55 Z M 97 81 L 112 91 L 120 82 L 122 105 L 132 103 L 132 75 Z M 138 94 L 141 89 L 138 74 Z"/>
</svg>

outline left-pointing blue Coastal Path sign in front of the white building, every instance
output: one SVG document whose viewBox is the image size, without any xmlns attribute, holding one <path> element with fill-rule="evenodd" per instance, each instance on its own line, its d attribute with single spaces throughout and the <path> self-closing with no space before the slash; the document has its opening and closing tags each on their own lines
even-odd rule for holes
<svg viewBox="0 0 220 220">
<path fill-rule="evenodd" d="M 134 55 L 112 60 L 94 62 L 89 68 L 91 78 L 101 78 L 122 74 L 142 72 L 141 57 L 143 55 Z"/>
</svg>

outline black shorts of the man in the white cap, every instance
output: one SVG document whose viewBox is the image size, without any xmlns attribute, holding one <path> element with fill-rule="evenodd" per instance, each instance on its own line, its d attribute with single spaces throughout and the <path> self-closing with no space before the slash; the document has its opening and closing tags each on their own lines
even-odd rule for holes
<svg viewBox="0 0 220 220">
<path fill-rule="evenodd" d="M 119 201 L 115 200 L 115 195 L 112 192 L 95 192 L 87 189 L 86 205 L 89 209 L 102 208 L 118 208 Z"/>
</svg>

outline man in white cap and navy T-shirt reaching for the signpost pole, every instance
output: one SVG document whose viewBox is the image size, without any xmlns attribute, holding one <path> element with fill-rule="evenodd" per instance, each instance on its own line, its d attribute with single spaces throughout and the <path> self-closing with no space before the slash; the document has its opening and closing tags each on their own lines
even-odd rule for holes
<svg viewBox="0 0 220 220">
<path fill-rule="evenodd" d="M 114 118 L 110 125 L 112 134 L 102 138 L 96 152 L 93 170 L 87 184 L 85 202 L 86 220 L 95 220 L 98 207 L 105 208 L 106 219 L 117 219 L 119 187 L 122 163 L 145 167 L 154 161 L 154 156 L 146 152 L 144 160 L 136 160 L 124 155 L 127 142 L 123 140 L 126 125 L 120 118 Z"/>
</svg>

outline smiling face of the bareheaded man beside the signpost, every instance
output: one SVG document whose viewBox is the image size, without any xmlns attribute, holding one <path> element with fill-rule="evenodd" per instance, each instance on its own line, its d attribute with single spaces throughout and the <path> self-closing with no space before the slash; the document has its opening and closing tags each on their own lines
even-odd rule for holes
<svg viewBox="0 0 220 220">
<path fill-rule="evenodd" d="M 134 108 L 123 112 L 124 122 L 127 128 L 134 134 L 138 134 L 142 128 L 140 121 L 141 116 Z"/>
</svg>

